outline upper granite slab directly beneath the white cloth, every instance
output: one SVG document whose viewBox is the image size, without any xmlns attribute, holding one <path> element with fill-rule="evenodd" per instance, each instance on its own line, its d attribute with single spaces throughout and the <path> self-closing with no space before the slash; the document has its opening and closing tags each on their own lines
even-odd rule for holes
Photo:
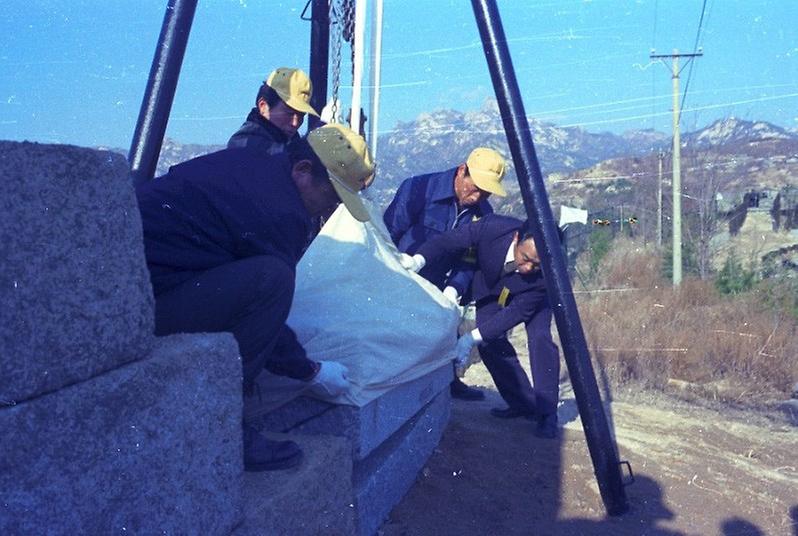
<svg viewBox="0 0 798 536">
<path fill-rule="evenodd" d="M 396 386 L 361 408 L 299 397 L 261 414 L 257 400 L 248 398 L 245 415 L 258 428 L 274 432 L 346 437 L 351 441 L 354 459 L 362 460 L 436 395 L 448 390 L 452 378 L 452 366 L 446 363 L 426 376 Z"/>
</svg>

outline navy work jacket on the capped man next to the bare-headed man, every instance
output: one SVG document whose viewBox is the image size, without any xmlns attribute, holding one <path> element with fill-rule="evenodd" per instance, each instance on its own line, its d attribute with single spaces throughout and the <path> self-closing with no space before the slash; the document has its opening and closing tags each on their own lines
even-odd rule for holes
<svg viewBox="0 0 798 536">
<path fill-rule="evenodd" d="M 430 238 L 467 222 L 492 214 L 487 200 L 457 211 L 454 176 L 457 168 L 406 179 L 385 209 L 383 220 L 396 247 L 413 255 Z M 456 252 L 429 262 L 419 275 L 443 289 L 451 285 L 465 295 L 474 276 L 473 255 Z M 451 274 L 447 277 L 447 272 Z"/>
</svg>

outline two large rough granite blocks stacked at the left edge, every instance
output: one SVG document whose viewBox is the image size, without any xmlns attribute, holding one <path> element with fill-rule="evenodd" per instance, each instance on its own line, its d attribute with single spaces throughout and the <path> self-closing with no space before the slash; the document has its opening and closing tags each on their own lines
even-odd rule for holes
<svg viewBox="0 0 798 536">
<path fill-rule="evenodd" d="M 230 334 L 153 335 L 127 164 L 0 142 L 0 534 L 229 534 Z"/>
</svg>

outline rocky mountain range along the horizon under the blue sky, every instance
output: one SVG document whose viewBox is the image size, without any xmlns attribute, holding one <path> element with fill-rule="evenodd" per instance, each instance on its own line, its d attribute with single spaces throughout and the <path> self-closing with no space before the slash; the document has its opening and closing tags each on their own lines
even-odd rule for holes
<svg viewBox="0 0 798 536">
<path fill-rule="evenodd" d="M 529 127 L 552 201 L 575 206 L 590 204 L 595 210 L 610 208 L 618 202 L 634 204 L 632 194 L 653 188 L 659 150 L 666 153 L 665 173 L 670 171 L 669 134 L 654 130 L 595 133 L 534 118 L 529 119 Z M 405 178 L 453 168 L 464 162 L 477 146 L 493 147 L 506 157 L 505 184 L 510 195 L 504 200 L 494 198 L 493 203 L 500 212 L 522 216 L 519 187 L 495 102 L 479 111 L 425 113 L 380 135 L 377 180 L 369 196 L 385 207 Z M 794 130 L 732 117 L 684 133 L 681 146 L 682 173 L 688 185 L 691 177 L 706 175 L 707 169 L 713 170 L 722 189 L 735 194 L 751 188 L 798 183 L 798 132 Z M 172 164 L 222 147 L 184 145 L 166 139 L 157 173 L 165 173 Z M 701 174 L 691 173 L 698 169 Z M 612 177 L 620 177 L 620 182 L 609 180 Z M 641 181 L 645 184 L 636 188 L 635 184 Z M 629 195 L 622 195 L 624 191 Z"/>
</svg>

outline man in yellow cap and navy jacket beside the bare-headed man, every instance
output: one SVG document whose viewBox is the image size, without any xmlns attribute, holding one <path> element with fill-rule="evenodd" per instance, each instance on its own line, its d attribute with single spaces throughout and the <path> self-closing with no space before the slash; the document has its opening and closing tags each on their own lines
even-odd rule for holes
<svg viewBox="0 0 798 536">
<path fill-rule="evenodd" d="M 495 150 L 477 147 L 459 166 L 406 179 L 383 215 L 391 239 L 403 253 L 418 248 L 444 231 L 493 213 L 488 197 L 507 195 L 501 184 L 506 164 Z M 467 296 L 474 277 L 473 253 L 442 256 L 426 265 L 419 275 L 428 279 L 452 301 Z M 459 379 L 452 382 L 452 396 L 481 400 L 484 393 Z"/>
</svg>

